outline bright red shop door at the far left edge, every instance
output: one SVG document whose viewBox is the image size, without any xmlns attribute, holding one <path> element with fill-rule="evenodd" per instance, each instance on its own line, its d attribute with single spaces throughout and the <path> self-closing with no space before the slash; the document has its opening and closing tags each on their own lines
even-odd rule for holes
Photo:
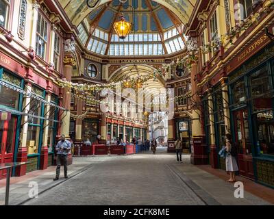
<svg viewBox="0 0 274 219">
<path fill-rule="evenodd" d="M 13 162 L 16 138 L 16 116 L 10 120 L 0 120 L 0 164 Z M 0 179 L 5 178 L 6 170 L 0 170 Z"/>
</svg>

